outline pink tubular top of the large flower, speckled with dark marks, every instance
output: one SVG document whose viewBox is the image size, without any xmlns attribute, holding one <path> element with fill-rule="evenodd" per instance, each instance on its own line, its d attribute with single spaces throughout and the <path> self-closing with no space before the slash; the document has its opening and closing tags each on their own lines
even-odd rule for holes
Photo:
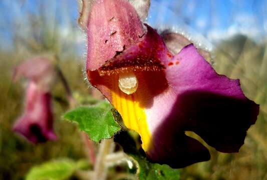
<svg viewBox="0 0 267 180">
<path fill-rule="evenodd" d="M 128 0 L 96 0 L 88 18 L 87 69 L 98 69 L 116 53 L 138 42 L 144 33 Z"/>
</svg>

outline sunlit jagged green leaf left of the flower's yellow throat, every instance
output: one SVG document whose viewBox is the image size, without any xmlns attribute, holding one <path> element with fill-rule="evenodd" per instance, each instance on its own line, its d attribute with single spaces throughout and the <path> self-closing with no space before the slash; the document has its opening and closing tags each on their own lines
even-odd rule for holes
<svg viewBox="0 0 267 180">
<path fill-rule="evenodd" d="M 99 142 L 104 138 L 111 138 L 121 127 L 114 120 L 112 106 L 102 102 L 94 106 L 82 106 L 67 112 L 64 118 L 78 122 L 80 129 L 85 131 L 90 139 Z"/>
</svg>

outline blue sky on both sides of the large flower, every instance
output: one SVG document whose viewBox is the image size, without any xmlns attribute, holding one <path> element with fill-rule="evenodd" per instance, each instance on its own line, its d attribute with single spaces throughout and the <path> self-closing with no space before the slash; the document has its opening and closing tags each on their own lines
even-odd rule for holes
<svg viewBox="0 0 267 180">
<path fill-rule="evenodd" d="M 12 32 L 16 30 L 14 24 L 25 25 L 28 12 L 40 13 L 40 2 L 48 18 L 57 18 L 65 27 L 76 25 L 76 0 L 0 0 L 0 45 L 5 42 L 6 47 L 12 47 Z M 154 27 L 193 31 L 211 42 L 236 33 L 247 34 L 257 40 L 265 37 L 267 32 L 267 1 L 152 0 L 148 23 Z"/>
</svg>

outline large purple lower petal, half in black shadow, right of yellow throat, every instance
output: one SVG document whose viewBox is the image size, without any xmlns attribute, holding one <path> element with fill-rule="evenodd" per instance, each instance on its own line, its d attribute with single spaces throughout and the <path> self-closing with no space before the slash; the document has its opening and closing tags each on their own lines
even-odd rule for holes
<svg viewBox="0 0 267 180">
<path fill-rule="evenodd" d="M 238 80 L 218 75 L 192 44 L 170 62 L 166 79 L 171 89 L 154 97 L 150 109 L 163 115 L 153 121 L 149 157 L 172 167 L 207 160 L 207 151 L 195 142 L 198 147 L 191 148 L 184 131 L 195 132 L 218 151 L 237 152 L 256 121 L 258 104 L 244 96 Z"/>
</svg>

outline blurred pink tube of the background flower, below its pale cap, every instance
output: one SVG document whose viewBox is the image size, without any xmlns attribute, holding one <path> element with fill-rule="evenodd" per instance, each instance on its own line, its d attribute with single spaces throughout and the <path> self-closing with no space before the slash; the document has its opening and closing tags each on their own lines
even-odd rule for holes
<svg viewBox="0 0 267 180">
<path fill-rule="evenodd" d="M 51 94 L 30 82 L 26 95 L 26 110 L 13 129 L 33 143 L 57 139 L 53 130 Z"/>
</svg>

